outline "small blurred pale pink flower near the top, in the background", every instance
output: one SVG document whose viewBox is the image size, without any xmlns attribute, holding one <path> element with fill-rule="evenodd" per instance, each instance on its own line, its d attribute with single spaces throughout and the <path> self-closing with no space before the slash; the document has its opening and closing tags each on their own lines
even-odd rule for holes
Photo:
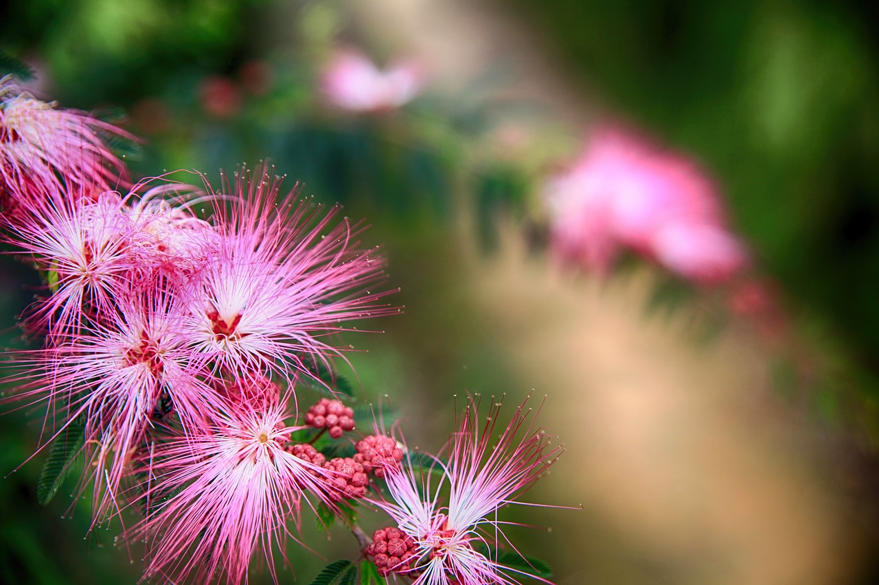
<svg viewBox="0 0 879 585">
<path fill-rule="evenodd" d="M 404 61 L 380 71 L 366 55 L 340 51 L 323 70 L 323 93 L 340 108 L 353 112 L 393 110 L 421 91 L 421 69 Z"/>
</svg>

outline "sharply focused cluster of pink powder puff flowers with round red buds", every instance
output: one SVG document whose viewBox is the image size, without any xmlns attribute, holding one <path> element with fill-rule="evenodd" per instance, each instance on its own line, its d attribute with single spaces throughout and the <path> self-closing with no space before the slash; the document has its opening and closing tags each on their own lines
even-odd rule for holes
<svg viewBox="0 0 879 585">
<path fill-rule="evenodd" d="M 496 544 L 498 508 L 558 453 L 521 408 L 490 450 L 497 412 L 480 431 L 469 404 L 449 462 L 431 470 L 447 505 L 393 437 L 361 435 L 351 457 L 331 457 L 327 442 L 355 427 L 342 401 L 300 409 L 302 382 L 332 391 L 323 374 L 344 348 L 331 334 L 398 311 L 369 291 L 383 262 L 359 248 L 362 227 L 281 197 L 262 167 L 221 191 L 130 184 L 113 136 L 134 139 L 0 85 L 0 238 L 46 282 L 23 314 L 44 343 L 10 353 L 3 401 L 45 406 L 40 449 L 83 433 L 69 459 L 84 456 L 93 524 L 142 513 L 119 541 L 146 543 L 144 579 L 246 582 L 261 553 L 277 581 L 303 504 L 341 515 L 366 498 L 399 525 L 363 551 L 381 574 L 514 582 L 479 544 Z"/>
</svg>

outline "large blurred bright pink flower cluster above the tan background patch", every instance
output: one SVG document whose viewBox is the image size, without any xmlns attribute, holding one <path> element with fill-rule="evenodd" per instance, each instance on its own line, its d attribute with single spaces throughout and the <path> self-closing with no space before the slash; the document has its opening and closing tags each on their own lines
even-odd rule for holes
<svg viewBox="0 0 879 585">
<path fill-rule="evenodd" d="M 565 258 L 607 272 L 622 248 L 700 283 L 747 264 L 716 186 L 693 161 L 611 126 L 545 192 L 552 241 Z"/>
</svg>

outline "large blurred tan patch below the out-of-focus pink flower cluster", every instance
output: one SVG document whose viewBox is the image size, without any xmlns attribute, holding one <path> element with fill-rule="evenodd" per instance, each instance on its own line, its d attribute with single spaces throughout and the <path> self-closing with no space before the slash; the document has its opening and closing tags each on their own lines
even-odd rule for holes
<svg viewBox="0 0 879 585">
<path fill-rule="evenodd" d="M 643 576 L 852 582 L 858 552 L 832 451 L 771 394 L 756 340 L 727 332 L 694 343 L 690 310 L 645 318 L 649 274 L 588 280 L 527 256 L 515 235 L 470 270 L 510 363 L 549 394 L 543 422 L 568 446 L 547 482 L 553 501 L 581 498 L 655 563 Z M 554 517 L 584 547 L 595 540 L 576 515 Z M 566 546 L 577 559 L 579 545 Z M 648 581 L 636 572 L 610 582 Z"/>
</svg>

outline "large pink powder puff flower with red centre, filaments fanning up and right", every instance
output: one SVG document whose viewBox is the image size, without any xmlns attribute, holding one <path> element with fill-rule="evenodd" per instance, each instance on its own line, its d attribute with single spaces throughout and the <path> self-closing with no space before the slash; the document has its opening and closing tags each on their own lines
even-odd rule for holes
<svg viewBox="0 0 879 585">
<path fill-rule="evenodd" d="M 181 327 L 215 372 L 276 372 L 289 382 L 339 354 L 321 337 L 345 330 L 342 321 L 397 309 L 376 302 L 389 293 L 366 290 L 383 279 L 383 262 L 356 248 L 359 229 L 347 218 L 334 225 L 338 207 L 297 204 L 295 191 L 276 203 L 281 179 L 256 175 L 238 175 L 228 209 L 216 210 L 219 249 L 185 292 Z"/>
</svg>

